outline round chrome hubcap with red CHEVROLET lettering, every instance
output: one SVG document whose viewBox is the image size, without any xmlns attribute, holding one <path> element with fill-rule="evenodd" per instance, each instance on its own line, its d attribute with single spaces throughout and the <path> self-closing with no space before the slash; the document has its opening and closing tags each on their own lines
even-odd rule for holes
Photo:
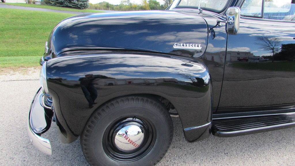
<svg viewBox="0 0 295 166">
<path fill-rule="evenodd" d="M 126 126 L 127 125 L 127 126 Z M 118 131 L 119 130 L 119 131 Z M 131 152 L 140 147 L 144 140 L 143 127 L 137 122 L 120 125 L 115 132 L 115 147 L 123 152 Z"/>
</svg>

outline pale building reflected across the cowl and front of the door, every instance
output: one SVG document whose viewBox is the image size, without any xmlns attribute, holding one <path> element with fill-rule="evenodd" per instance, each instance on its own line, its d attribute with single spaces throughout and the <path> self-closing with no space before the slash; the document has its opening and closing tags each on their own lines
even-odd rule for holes
<svg viewBox="0 0 295 166">
<path fill-rule="evenodd" d="M 225 51 L 217 52 L 217 53 L 206 53 L 202 57 L 208 61 L 214 61 L 223 63 L 224 62 Z M 239 59 L 246 58 L 249 56 L 253 56 L 251 52 L 241 52 L 241 51 L 227 51 L 226 61 L 239 61 Z"/>
</svg>

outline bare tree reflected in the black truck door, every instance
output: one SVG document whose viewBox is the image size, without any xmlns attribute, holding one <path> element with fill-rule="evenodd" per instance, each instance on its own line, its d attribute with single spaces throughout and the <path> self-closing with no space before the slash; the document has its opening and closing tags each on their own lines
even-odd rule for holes
<svg viewBox="0 0 295 166">
<path fill-rule="evenodd" d="M 278 38 L 268 38 L 266 36 L 258 36 L 256 38 L 256 44 L 259 45 L 260 49 L 271 51 L 273 54 L 272 62 L 274 60 L 274 55 L 280 51 L 280 43 Z"/>
</svg>

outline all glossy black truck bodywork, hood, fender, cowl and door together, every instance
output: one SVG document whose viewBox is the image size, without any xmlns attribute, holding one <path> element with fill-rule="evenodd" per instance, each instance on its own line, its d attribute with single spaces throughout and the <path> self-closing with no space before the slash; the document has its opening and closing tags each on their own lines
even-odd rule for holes
<svg viewBox="0 0 295 166">
<path fill-rule="evenodd" d="M 257 64 L 269 63 L 266 68 L 247 66 L 241 56 L 269 54 L 258 47 L 257 36 L 292 48 L 294 23 L 242 18 L 240 33 L 227 35 L 225 23 L 216 26 L 220 14 L 173 10 L 86 14 L 55 27 L 44 59 L 50 59 L 48 87 L 63 142 L 74 141 L 97 108 L 125 95 L 169 100 L 190 142 L 209 136 L 212 113 L 295 107 L 293 68 L 276 67 L 281 60 Z M 202 49 L 177 50 L 174 43 L 201 43 Z"/>
</svg>

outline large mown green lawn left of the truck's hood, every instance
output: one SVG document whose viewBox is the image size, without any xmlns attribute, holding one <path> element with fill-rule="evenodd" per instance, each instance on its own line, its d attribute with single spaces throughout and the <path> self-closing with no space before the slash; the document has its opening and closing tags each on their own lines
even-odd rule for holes
<svg viewBox="0 0 295 166">
<path fill-rule="evenodd" d="M 36 66 L 55 25 L 74 14 L 0 10 L 0 67 Z"/>
</svg>

